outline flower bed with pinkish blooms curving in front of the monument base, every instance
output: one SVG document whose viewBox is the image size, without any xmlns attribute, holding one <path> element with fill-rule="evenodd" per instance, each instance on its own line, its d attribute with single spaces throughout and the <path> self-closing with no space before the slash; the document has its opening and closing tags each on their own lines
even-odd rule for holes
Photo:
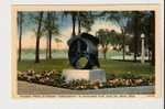
<svg viewBox="0 0 165 109">
<path fill-rule="evenodd" d="M 65 81 L 62 73 L 57 70 L 45 70 L 43 73 L 35 73 L 34 70 L 18 72 L 18 79 L 42 85 L 48 85 L 59 88 L 68 89 L 99 89 L 111 87 L 135 87 L 154 85 L 155 77 L 141 77 L 127 73 L 120 77 L 110 75 L 106 83 L 95 81 L 90 83 L 85 79 Z"/>
</svg>

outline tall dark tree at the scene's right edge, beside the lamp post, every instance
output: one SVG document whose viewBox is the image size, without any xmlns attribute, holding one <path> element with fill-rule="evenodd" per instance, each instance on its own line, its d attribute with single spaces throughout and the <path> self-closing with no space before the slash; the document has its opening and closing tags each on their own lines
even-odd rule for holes
<svg viewBox="0 0 165 109">
<path fill-rule="evenodd" d="M 152 62 L 152 65 L 155 65 L 155 13 L 154 11 L 144 11 L 142 14 L 141 29 L 142 33 L 145 34 L 145 47 L 148 50 L 148 61 Z"/>
</svg>

